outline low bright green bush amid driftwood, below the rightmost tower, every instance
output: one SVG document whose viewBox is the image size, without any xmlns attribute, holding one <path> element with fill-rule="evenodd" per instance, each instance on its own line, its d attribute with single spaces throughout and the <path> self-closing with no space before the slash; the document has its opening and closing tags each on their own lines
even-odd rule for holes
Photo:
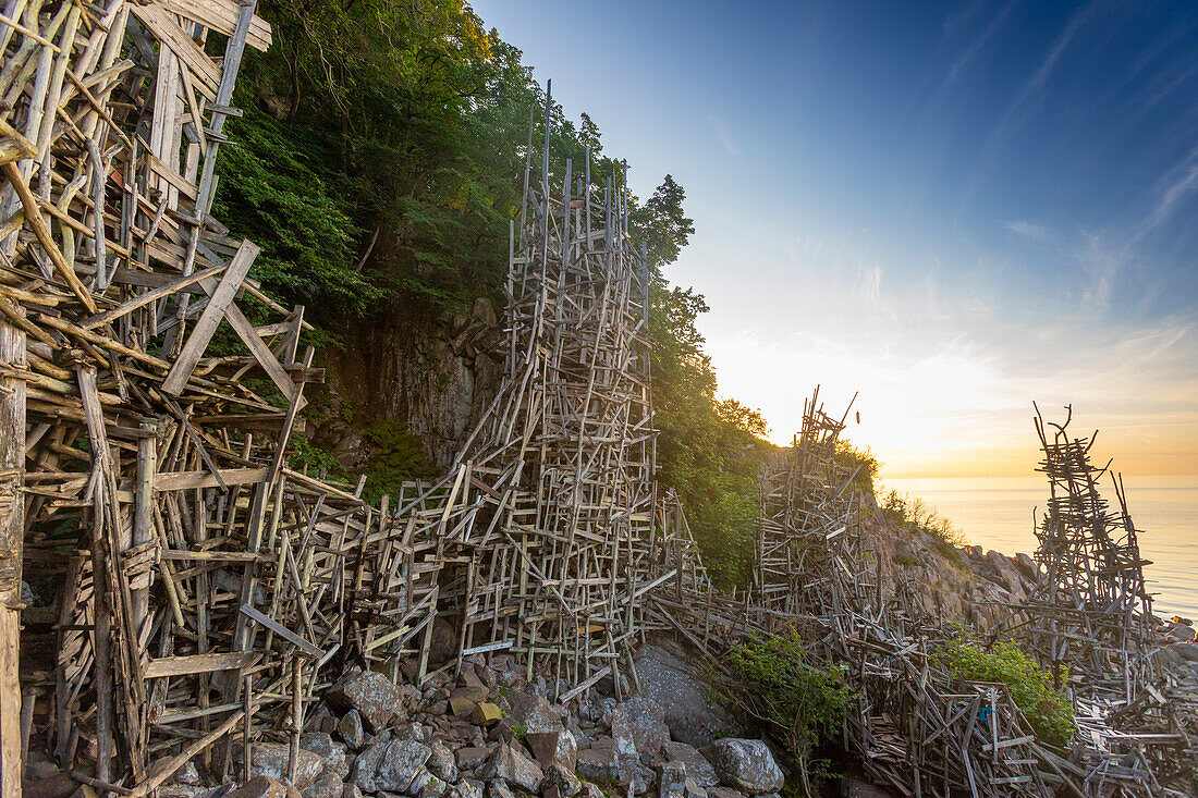
<svg viewBox="0 0 1198 798">
<path fill-rule="evenodd" d="M 1015 641 L 1000 641 L 986 651 L 974 635 L 961 634 L 944 643 L 934 658 L 962 679 L 1005 684 L 1042 742 L 1063 746 L 1077 731 L 1069 696 L 1052 687 L 1052 676 Z M 1067 681 L 1067 673 L 1064 678 Z"/>
</svg>

